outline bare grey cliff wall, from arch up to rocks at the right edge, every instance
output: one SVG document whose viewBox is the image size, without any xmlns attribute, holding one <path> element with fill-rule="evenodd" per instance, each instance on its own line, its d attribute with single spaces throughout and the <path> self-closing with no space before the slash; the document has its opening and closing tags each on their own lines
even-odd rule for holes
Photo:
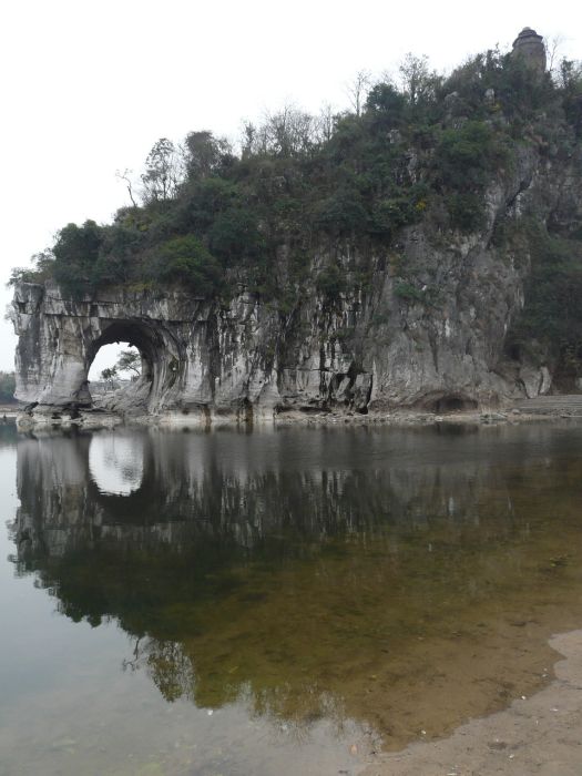
<svg viewBox="0 0 582 776">
<path fill-rule="evenodd" d="M 580 217 L 576 163 L 552 163 L 528 146 L 487 191 L 478 232 L 440 234 L 430 223 L 401 233 L 391 253 L 368 255 L 348 244 L 323 246 L 306 274 L 341 268 L 346 288 L 329 299 L 315 279 L 280 312 L 244 286 L 228 303 L 181 289 L 109 289 L 63 297 L 52 283 L 19 284 L 12 319 L 19 335 L 17 398 L 37 410 L 90 406 L 86 376 L 99 348 L 130 341 L 144 370 L 113 409 L 201 419 L 272 417 L 326 407 L 492 406 L 547 392 L 540 365 L 508 363 L 507 331 L 523 305 L 530 267 L 494 239 L 500 221 L 547 224 Z M 525 245 L 525 243 L 523 243 Z M 361 284 L 363 268 L 367 283 Z M 285 252 L 275 268 L 288 283 Z"/>
</svg>

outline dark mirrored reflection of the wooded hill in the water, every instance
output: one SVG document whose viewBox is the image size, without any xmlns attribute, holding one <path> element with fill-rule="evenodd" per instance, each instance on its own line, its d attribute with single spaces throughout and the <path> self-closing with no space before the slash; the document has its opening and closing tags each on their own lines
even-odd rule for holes
<svg viewBox="0 0 582 776">
<path fill-rule="evenodd" d="M 114 437 L 134 452 L 124 496 L 95 458 Z M 499 645 L 513 610 L 543 604 L 540 584 L 580 589 L 581 440 L 543 427 L 25 438 L 18 566 L 73 620 L 115 617 L 134 637 L 126 666 L 167 700 L 245 698 L 305 724 L 349 714 L 400 741 L 431 698 L 441 731 L 461 706 L 499 704 L 510 672 L 533 681 Z M 489 694 L 470 674 L 479 654 Z M 453 675 L 473 706 L 442 707 Z"/>
</svg>

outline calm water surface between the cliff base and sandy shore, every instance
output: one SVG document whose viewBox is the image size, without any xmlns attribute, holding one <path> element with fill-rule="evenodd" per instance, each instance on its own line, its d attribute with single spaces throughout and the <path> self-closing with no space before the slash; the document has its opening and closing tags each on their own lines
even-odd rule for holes
<svg viewBox="0 0 582 776">
<path fill-rule="evenodd" d="M 4 425 L 0 478 L 0 776 L 356 774 L 582 626 L 582 427 Z"/>
</svg>

